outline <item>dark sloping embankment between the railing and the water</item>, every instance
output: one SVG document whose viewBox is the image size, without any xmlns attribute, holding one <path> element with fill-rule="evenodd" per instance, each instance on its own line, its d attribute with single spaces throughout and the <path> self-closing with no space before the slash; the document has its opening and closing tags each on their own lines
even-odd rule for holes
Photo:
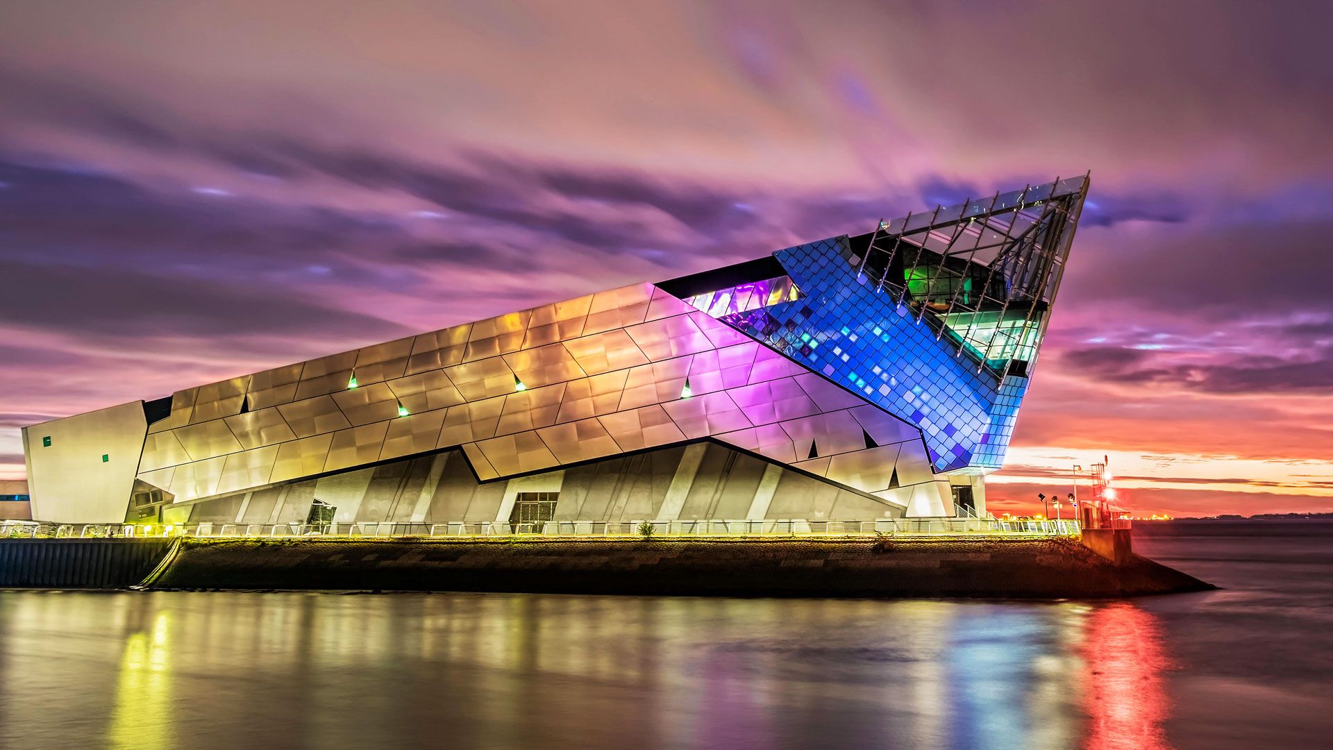
<svg viewBox="0 0 1333 750">
<path fill-rule="evenodd" d="M 156 589 L 720 597 L 1125 597 L 1210 589 L 1072 540 L 203 540 Z"/>
</svg>

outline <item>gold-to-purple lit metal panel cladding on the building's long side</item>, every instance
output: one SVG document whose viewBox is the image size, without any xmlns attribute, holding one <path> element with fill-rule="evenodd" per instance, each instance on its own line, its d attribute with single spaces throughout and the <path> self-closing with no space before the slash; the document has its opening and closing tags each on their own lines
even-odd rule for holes
<svg viewBox="0 0 1333 750">
<path fill-rule="evenodd" d="M 872 492 L 898 455 L 884 446 L 921 446 L 914 427 L 651 284 L 233 379 L 180 411 L 247 383 L 295 400 L 152 435 L 145 480 L 197 499 L 455 447 L 487 480 L 713 436 L 817 472 L 838 456 L 837 480 Z"/>
</svg>

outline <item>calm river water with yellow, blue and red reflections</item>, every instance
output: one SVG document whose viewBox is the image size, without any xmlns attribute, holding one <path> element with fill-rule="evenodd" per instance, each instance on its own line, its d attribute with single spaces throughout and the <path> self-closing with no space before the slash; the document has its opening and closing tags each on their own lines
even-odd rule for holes
<svg viewBox="0 0 1333 750">
<path fill-rule="evenodd" d="M 1125 602 L 0 591 L 0 747 L 1328 747 L 1333 523 Z"/>
</svg>

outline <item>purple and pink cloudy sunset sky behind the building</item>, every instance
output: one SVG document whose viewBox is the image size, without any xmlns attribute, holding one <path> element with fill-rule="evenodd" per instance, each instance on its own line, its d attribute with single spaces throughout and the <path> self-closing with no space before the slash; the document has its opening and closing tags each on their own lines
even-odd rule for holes
<svg viewBox="0 0 1333 750">
<path fill-rule="evenodd" d="M 1092 169 L 990 508 L 1333 510 L 1333 4 L 0 3 L 19 427 Z"/>
</svg>

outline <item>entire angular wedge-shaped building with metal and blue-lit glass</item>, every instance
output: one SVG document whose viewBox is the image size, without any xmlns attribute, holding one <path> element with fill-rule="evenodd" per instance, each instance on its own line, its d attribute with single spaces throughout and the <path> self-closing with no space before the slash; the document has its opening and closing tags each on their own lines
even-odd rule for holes
<svg viewBox="0 0 1333 750">
<path fill-rule="evenodd" d="M 1085 176 L 24 428 L 53 522 L 985 511 Z"/>
</svg>

